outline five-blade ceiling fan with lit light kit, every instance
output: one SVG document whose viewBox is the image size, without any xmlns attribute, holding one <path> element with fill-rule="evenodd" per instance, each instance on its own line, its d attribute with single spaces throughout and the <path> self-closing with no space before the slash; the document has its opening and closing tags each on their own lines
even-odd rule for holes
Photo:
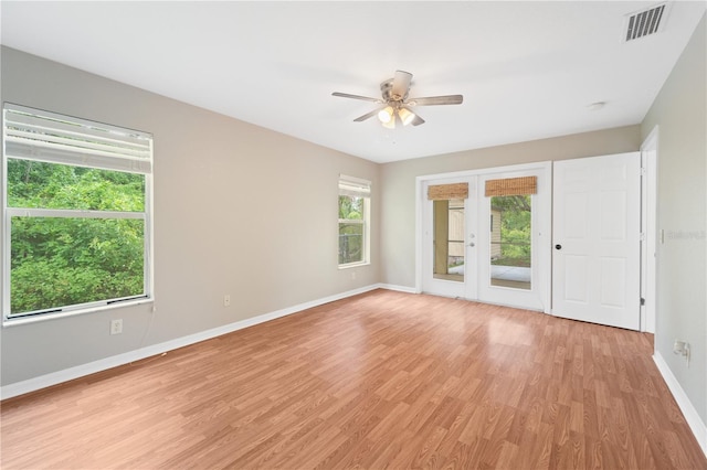
<svg viewBox="0 0 707 470">
<path fill-rule="evenodd" d="M 382 107 L 373 109 L 370 113 L 354 119 L 355 122 L 361 122 L 370 117 L 378 116 L 383 127 L 389 129 L 395 128 L 395 120 L 400 120 L 403 126 L 412 124 L 420 126 L 424 124 L 424 119 L 412 111 L 415 106 L 437 106 L 437 105 L 461 105 L 464 97 L 462 95 L 445 96 L 428 96 L 423 98 L 408 98 L 410 93 L 410 84 L 412 74 L 404 71 L 395 71 L 395 76 L 380 84 L 382 98 L 370 98 L 368 96 L 350 95 L 348 93 L 334 92 L 333 96 L 341 98 L 362 99 L 372 102 Z"/>
</svg>

